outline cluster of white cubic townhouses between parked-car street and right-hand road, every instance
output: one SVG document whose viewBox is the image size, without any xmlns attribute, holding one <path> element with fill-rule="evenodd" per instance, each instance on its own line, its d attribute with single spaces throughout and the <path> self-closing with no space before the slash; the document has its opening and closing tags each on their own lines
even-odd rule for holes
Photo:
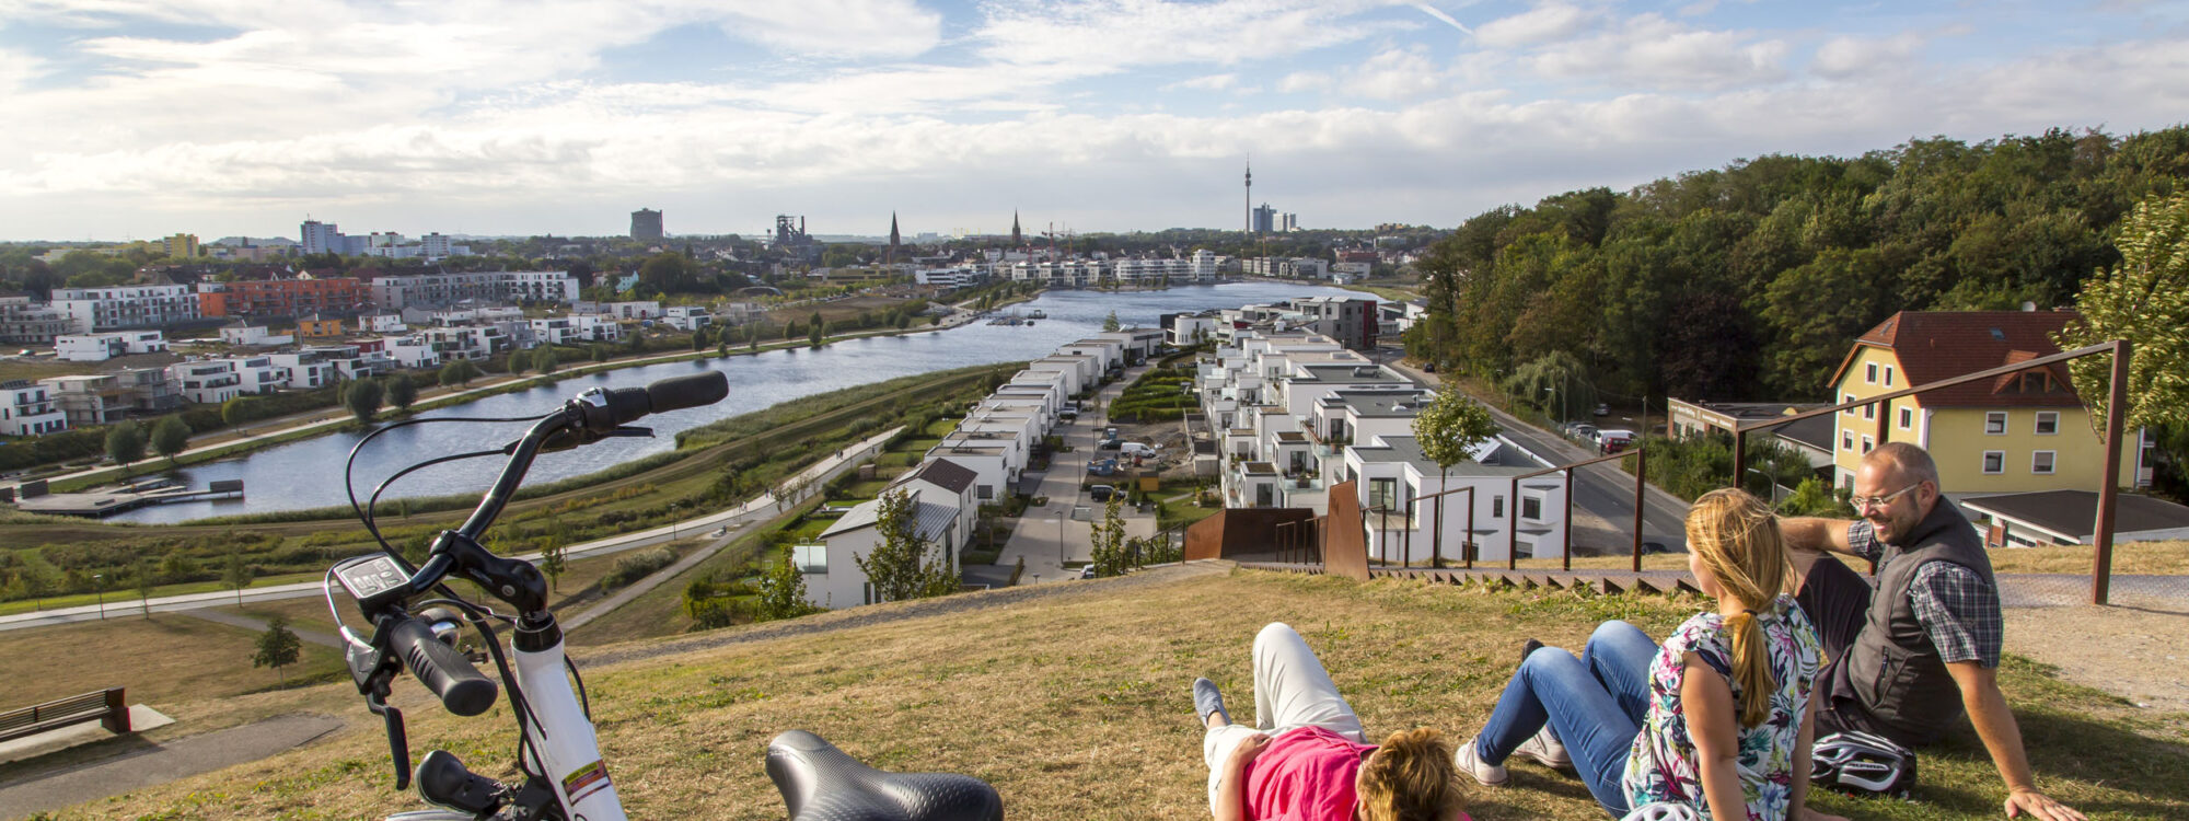
<svg viewBox="0 0 2189 821">
<path fill-rule="evenodd" d="M 1412 427 L 1432 392 L 1405 374 L 1311 331 L 1224 324 L 1219 333 L 1195 392 L 1219 436 L 1226 508 L 1320 517 L 1331 493 L 1344 490 L 1364 510 L 1370 558 L 1392 563 L 1427 556 L 1429 545 L 1447 556 L 1473 545 L 1482 560 L 1565 550 L 1565 479 L 1519 479 L 1550 460 L 1499 436 L 1443 469 L 1423 455 Z"/>
</svg>

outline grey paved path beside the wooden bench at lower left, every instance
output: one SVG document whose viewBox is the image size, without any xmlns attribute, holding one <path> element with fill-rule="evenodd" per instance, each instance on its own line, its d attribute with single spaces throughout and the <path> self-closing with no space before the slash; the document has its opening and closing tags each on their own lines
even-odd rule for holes
<svg viewBox="0 0 2189 821">
<path fill-rule="evenodd" d="M 166 742 L 123 738 L 116 744 L 134 744 L 136 749 L 96 762 L 31 773 L 0 786 L 0 814 L 13 819 L 50 812 L 223 766 L 256 762 L 320 740 L 341 727 L 341 718 L 304 714 L 267 718 Z"/>
</svg>

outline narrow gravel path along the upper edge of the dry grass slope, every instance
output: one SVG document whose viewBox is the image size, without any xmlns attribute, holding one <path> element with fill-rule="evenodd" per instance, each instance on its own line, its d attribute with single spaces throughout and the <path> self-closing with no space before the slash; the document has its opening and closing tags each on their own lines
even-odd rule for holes
<svg viewBox="0 0 2189 821">
<path fill-rule="evenodd" d="M 784 637 L 792 637 L 792 635 L 814 635 L 814 633 L 830 633 L 830 631 L 849 631 L 849 628 L 858 628 L 858 626 L 867 626 L 867 624 L 904 622 L 904 620 L 919 620 L 919 617 L 928 617 L 928 615 L 946 615 L 946 613 L 976 611 L 976 609 L 989 609 L 989 606 L 1011 606 L 1011 604 L 1040 602 L 1040 600 L 1053 600 L 1053 598 L 1064 598 L 1064 595 L 1088 595 L 1088 593 L 1110 595 L 1110 593 L 1116 593 L 1121 589 L 1169 585 L 1169 582 L 1178 582 L 1178 580 L 1184 580 L 1184 578 L 1213 576 L 1213 574 L 1230 574 L 1230 569 L 1232 569 L 1232 563 L 1228 563 L 1228 560 L 1206 560 L 1206 563 L 1189 563 L 1189 565 L 1149 567 L 1149 569 L 1143 569 L 1138 574 L 1123 576 L 1123 578 L 1090 578 L 1090 580 L 1070 580 L 1070 582 L 1051 582 L 1051 585 L 1020 585 L 1020 587 L 1005 587 L 1005 589 L 992 589 L 992 591 L 981 591 L 981 593 L 959 593 L 959 595 L 943 595 L 943 598 L 924 598 L 924 600 L 915 600 L 915 602 L 867 604 L 867 606 L 852 606 L 852 609 L 843 609 L 843 611 L 834 611 L 834 613 L 808 615 L 808 617 L 801 617 L 801 620 L 768 622 L 768 624 L 755 624 L 755 626 L 746 626 L 746 628 L 714 631 L 714 633 L 694 635 L 694 637 L 687 637 L 687 639 L 657 641 L 657 644 L 646 644 L 646 646 L 611 648 L 611 650 L 602 650 L 602 652 L 587 652 L 587 655 L 578 655 L 576 659 L 580 663 L 587 663 L 587 666 L 659 659 L 659 657 L 668 657 L 668 655 L 683 655 L 683 652 L 709 650 L 709 648 L 720 648 L 720 646 L 731 646 L 731 644 L 784 639 Z"/>
</svg>

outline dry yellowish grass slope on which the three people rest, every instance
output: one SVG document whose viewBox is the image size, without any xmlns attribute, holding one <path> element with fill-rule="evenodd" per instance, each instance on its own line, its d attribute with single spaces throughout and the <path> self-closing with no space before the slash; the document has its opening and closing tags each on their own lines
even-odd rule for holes
<svg viewBox="0 0 2189 821">
<path fill-rule="evenodd" d="M 1580 646 L 1607 617 L 1661 635 L 1696 609 L 1202 565 L 635 641 L 580 663 L 615 784 L 639 819 L 779 819 L 762 751 L 786 729 L 816 731 L 884 768 L 978 775 L 1014 819 L 1204 819 L 1186 685 L 1215 679 L 1250 718 L 1248 644 L 1265 622 L 1307 637 L 1370 736 L 1429 725 L 1464 738 L 1489 716 L 1524 637 Z M 2189 716 L 2154 716 L 2025 659 L 2007 661 L 2003 683 L 2047 790 L 2090 817 L 2189 817 Z M 63 817 L 348 819 L 416 808 L 392 790 L 379 722 L 348 683 L 247 698 L 258 714 L 335 709 L 352 729 Z M 414 755 L 444 747 L 508 775 L 506 703 L 455 720 L 405 683 L 398 705 Z M 1580 782 L 1532 764 L 1513 771 L 1513 788 L 1473 790 L 1475 819 L 1600 819 Z M 1856 819 L 1996 817 L 2001 797 L 1964 729 L 1922 760 L 1918 803 L 1819 806 Z"/>
</svg>

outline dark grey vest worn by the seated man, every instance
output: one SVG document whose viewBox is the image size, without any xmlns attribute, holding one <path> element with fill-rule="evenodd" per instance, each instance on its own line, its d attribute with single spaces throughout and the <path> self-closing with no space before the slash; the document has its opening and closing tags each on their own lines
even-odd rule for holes
<svg viewBox="0 0 2189 821">
<path fill-rule="evenodd" d="M 1968 519 L 1946 499 L 1937 499 L 1931 514 L 1902 541 L 1911 547 L 1885 545 L 1885 558 L 1878 560 L 1869 620 L 1848 648 L 1848 683 L 1887 736 L 1918 747 L 1937 740 L 1961 718 L 1961 690 L 1915 620 L 1909 585 L 1922 565 L 1935 560 L 1968 567 L 1992 582 L 1992 558 L 1983 554 L 1983 541 Z"/>
</svg>

